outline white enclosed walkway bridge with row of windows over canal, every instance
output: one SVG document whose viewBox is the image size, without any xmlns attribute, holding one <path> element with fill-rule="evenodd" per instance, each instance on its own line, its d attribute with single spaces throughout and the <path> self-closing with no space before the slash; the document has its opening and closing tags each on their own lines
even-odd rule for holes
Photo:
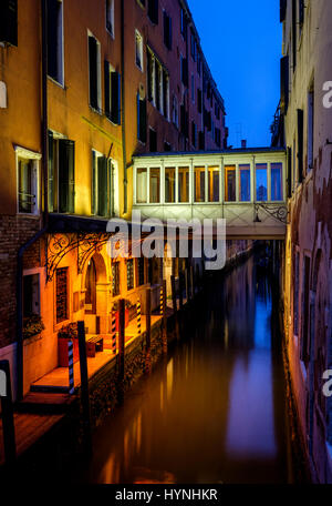
<svg viewBox="0 0 332 506">
<path fill-rule="evenodd" d="M 284 150 L 261 148 L 134 156 L 142 217 L 226 219 L 228 239 L 284 239 Z"/>
</svg>

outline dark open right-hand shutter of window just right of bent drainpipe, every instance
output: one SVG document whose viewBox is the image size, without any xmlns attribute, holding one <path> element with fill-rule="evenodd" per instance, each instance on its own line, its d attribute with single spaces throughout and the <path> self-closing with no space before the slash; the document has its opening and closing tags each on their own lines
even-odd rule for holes
<svg viewBox="0 0 332 506">
<path fill-rule="evenodd" d="M 59 211 L 74 213 L 75 201 L 75 143 L 59 141 Z"/>
</svg>

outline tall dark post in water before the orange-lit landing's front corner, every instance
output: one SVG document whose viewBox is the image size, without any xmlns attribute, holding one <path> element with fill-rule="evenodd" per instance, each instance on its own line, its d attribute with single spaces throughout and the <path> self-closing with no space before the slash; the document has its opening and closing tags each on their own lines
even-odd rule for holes
<svg viewBox="0 0 332 506">
<path fill-rule="evenodd" d="M 81 371 L 81 402 L 83 411 L 83 427 L 85 438 L 85 451 L 92 453 L 91 438 L 91 413 L 90 413 L 90 395 L 89 395 L 89 374 L 86 358 L 86 342 L 84 322 L 79 322 L 79 351 L 80 351 L 80 371 Z"/>
</svg>

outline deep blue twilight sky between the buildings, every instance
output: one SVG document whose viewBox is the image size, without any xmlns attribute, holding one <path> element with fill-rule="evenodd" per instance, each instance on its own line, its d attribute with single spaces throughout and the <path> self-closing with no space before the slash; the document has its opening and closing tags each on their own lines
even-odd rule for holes
<svg viewBox="0 0 332 506">
<path fill-rule="evenodd" d="M 188 0 L 226 104 L 229 144 L 270 145 L 280 99 L 279 0 Z"/>
</svg>

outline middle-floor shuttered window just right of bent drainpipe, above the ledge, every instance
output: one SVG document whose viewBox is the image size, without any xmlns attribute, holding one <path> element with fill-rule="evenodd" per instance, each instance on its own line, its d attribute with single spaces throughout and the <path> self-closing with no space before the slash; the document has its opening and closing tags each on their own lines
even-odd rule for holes
<svg viewBox="0 0 332 506">
<path fill-rule="evenodd" d="M 49 132 L 49 211 L 75 212 L 75 143 Z"/>
</svg>

